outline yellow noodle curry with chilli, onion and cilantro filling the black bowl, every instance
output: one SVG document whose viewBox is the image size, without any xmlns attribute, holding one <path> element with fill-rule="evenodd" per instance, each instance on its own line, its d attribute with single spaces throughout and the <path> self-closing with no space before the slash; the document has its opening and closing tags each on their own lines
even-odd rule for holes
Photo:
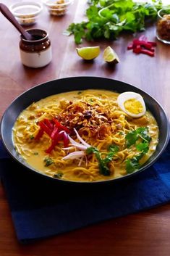
<svg viewBox="0 0 170 256">
<path fill-rule="evenodd" d="M 14 123 L 17 153 L 35 170 L 66 181 L 108 181 L 136 172 L 156 151 L 158 124 L 143 106 L 88 89 L 33 102 Z M 128 102 L 129 101 L 129 102 Z M 136 109 L 135 109 L 136 108 Z"/>
</svg>

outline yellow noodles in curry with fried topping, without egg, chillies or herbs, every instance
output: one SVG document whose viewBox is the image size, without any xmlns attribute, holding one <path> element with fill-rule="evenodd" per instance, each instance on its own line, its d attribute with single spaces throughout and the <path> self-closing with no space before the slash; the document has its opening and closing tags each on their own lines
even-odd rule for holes
<svg viewBox="0 0 170 256">
<path fill-rule="evenodd" d="M 18 154 L 40 173 L 69 181 L 102 181 L 127 175 L 127 160 L 139 154 L 135 145 L 127 147 L 127 134 L 139 127 L 148 128 L 151 140 L 148 152 L 140 159 L 140 165 L 143 165 L 156 150 L 158 125 L 148 111 L 140 118 L 129 117 L 119 108 L 118 96 L 105 90 L 70 91 L 31 104 L 14 124 L 13 140 Z M 80 149 L 70 143 L 68 149 L 64 149 L 62 140 L 46 153 L 52 143 L 51 137 L 44 132 L 40 139 L 35 139 L 40 131 L 38 124 L 54 118 L 71 131 L 72 139 L 81 144 L 75 128 L 86 143 L 100 152 L 102 159 L 109 154 L 109 146 L 117 146 L 118 150 L 107 164 L 109 175 L 100 172 L 100 162 L 94 153 L 77 159 L 63 159 Z"/>
</svg>

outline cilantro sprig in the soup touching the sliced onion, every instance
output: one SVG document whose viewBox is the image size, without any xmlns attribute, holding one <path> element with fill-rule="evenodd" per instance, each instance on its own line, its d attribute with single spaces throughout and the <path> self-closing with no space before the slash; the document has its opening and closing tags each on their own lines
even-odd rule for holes
<svg viewBox="0 0 170 256">
<path fill-rule="evenodd" d="M 99 152 L 99 150 L 97 148 L 95 148 L 94 146 L 90 146 L 88 149 L 86 149 L 86 153 L 87 154 L 95 154 L 95 157 L 98 160 L 98 167 L 99 167 L 99 171 L 103 176 L 109 176 L 111 174 L 109 167 L 107 166 L 109 164 L 109 162 L 111 162 L 111 160 L 114 157 L 114 154 L 116 154 L 116 152 L 119 151 L 119 146 L 116 145 L 111 145 L 109 146 L 109 153 L 106 155 L 105 158 L 101 157 L 101 153 Z"/>
</svg>

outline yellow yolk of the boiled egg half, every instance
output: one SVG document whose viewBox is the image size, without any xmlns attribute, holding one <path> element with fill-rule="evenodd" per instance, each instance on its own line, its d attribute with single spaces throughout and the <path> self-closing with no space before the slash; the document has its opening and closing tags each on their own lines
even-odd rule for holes
<svg viewBox="0 0 170 256">
<path fill-rule="evenodd" d="M 143 105 L 136 99 L 127 99 L 127 101 L 124 102 L 124 107 L 125 110 L 132 114 L 140 114 L 143 112 Z"/>
</svg>

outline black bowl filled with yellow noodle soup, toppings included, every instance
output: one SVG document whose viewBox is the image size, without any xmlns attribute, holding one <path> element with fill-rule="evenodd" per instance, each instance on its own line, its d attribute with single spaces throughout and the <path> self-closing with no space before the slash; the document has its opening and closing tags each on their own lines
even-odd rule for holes
<svg viewBox="0 0 170 256">
<path fill-rule="evenodd" d="M 108 78 L 63 78 L 15 99 L 2 117 L 1 138 L 17 162 L 41 176 L 103 183 L 153 165 L 168 144 L 169 120 L 161 105 L 135 86 Z"/>
</svg>

